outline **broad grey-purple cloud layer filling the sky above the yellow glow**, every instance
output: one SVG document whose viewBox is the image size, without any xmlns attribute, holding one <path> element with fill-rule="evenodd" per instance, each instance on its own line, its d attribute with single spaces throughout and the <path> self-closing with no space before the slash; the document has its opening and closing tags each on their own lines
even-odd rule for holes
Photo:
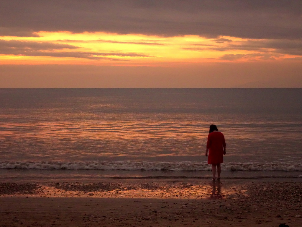
<svg viewBox="0 0 302 227">
<path fill-rule="evenodd" d="M 0 35 L 105 31 L 298 39 L 301 14 L 300 0 L 10 0 L 1 1 Z"/>
</svg>

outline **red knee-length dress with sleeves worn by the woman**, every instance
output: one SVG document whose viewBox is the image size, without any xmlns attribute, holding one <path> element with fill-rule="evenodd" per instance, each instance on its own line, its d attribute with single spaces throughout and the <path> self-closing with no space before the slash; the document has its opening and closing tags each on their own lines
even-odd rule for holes
<svg viewBox="0 0 302 227">
<path fill-rule="evenodd" d="M 208 135 L 207 148 L 209 148 L 208 164 L 223 163 L 223 148 L 226 147 L 221 132 L 212 132 Z"/>
</svg>

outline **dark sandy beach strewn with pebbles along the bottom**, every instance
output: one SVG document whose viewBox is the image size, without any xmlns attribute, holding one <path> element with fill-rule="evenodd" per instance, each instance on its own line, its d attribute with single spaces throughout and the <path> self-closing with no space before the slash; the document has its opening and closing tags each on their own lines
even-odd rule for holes
<svg viewBox="0 0 302 227">
<path fill-rule="evenodd" d="M 0 226 L 301 227 L 301 196 L 300 179 L 9 182 Z"/>
</svg>

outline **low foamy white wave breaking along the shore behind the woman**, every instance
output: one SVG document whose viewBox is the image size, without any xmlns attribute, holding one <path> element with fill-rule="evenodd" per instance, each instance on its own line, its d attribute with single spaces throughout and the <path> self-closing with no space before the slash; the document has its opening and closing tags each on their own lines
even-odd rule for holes
<svg viewBox="0 0 302 227">
<path fill-rule="evenodd" d="M 0 162 L 0 169 L 66 169 L 66 170 L 154 170 L 154 171 L 210 171 L 207 162 Z M 222 163 L 222 171 L 302 171 L 302 164 L 292 163 Z"/>
</svg>

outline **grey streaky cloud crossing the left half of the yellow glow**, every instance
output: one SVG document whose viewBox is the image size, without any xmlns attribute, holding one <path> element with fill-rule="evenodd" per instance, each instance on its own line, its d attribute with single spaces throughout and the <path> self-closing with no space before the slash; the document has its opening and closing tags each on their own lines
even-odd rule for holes
<svg viewBox="0 0 302 227">
<path fill-rule="evenodd" d="M 49 42 L 34 42 L 34 41 L 17 41 L 17 40 L 0 40 L 0 54 L 12 54 L 22 56 L 48 56 L 58 58 L 87 58 L 87 59 L 109 59 L 120 60 L 117 58 L 109 58 L 104 56 L 117 57 L 151 57 L 145 54 L 137 53 L 100 53 L 100 52 L 57 52 L 55 50 L 76 49 L 78 47 L 69 44 L 56 44 Z M 101 56 L 101 57 L 100 57 Z M 122 61 L 122 60 L 120 60 Z"/>
</svg>

